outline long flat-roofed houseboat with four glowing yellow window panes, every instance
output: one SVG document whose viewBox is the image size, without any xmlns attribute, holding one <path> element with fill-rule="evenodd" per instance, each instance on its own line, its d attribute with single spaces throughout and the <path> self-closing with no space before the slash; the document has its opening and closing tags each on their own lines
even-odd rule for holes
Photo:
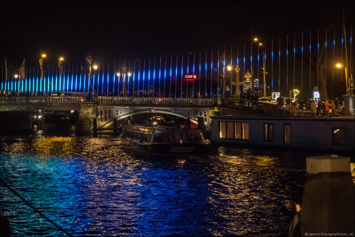
<svg viewBox="0 0 355 237">
<path fill-rule="evenodd" d="M 354 117 L 212 116 L 212 145 L 354 152 Z"/>
</svg>

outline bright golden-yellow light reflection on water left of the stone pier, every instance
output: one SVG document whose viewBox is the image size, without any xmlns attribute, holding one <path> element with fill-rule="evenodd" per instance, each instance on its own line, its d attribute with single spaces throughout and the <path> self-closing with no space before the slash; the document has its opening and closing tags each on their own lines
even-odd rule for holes
<svg viewBox="0 0 355 237">
<path fill-rule="evenodd" d="M 75 139 L 69 137 L 41 137 L 33 141 L 33 151 L 40 156 L 72 156 L 75 154 L 75 146 Z"/>
</svg>

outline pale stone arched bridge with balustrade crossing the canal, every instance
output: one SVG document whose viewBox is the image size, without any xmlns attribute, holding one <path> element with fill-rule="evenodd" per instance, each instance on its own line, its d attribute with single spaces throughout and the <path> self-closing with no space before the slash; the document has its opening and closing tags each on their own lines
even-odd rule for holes
<svg viewBox="0 0 355 237">
<path fill-rule="evenodd" d="M 216 114 L 277 114 L 281 113 L 275 104 L 262 103 L 247 99 L 224 97 L 213 98 L 156 98 L 156 97 L 119 97 L 61 95 L 61 96 L 2 96 L 0 97 L 1 116 L 11 112 L 65 112 L 78 116 L 79 130 L 91 134 L 94 119 L 97 128 L 112 128 L 114 121 L 125 124 L 125 120 L 139 120 L 143 114 L 169 114 L 189 119 L 198 124 L 203 118 L 211 123 Z M 154 115 L 152 115 L 154 116 Z"/>
</svg>

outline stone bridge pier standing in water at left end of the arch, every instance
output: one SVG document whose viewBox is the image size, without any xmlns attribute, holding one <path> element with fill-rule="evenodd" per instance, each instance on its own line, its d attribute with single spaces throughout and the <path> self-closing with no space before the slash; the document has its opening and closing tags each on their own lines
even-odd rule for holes
<svg viewBox="0 0 355 237">
<path fill-rule="evenodd" d="M 95 104 L 84 102 L 79 106 L 78 132 L 82 135 L 91 135 L 94 118 L 96 118 Z"/>
</svg>

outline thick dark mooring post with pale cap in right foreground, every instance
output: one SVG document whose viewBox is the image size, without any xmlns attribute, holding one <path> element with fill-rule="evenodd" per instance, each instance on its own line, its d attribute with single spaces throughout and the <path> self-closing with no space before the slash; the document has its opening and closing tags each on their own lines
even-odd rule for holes
<svg viewBox="0 0 355 237">
<path fill-rule="evenodd" d="M 354 233 L 355 186 L 350 158 L 306 158 L 307 177 L 300 211 L 301 236 Z"/>
</svg>

